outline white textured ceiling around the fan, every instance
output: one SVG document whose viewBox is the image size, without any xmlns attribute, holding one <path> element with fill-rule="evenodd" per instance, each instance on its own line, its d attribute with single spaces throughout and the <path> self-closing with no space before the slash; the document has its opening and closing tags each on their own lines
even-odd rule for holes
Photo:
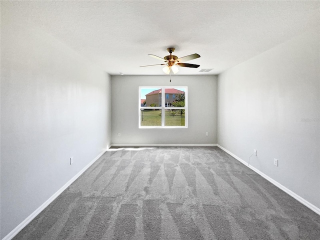
<svg viewBox="0 0 320 240">
<path fill-rule="evenodd" d="M 200 58 L 177 74 L 218 74 L 319 24 L 319 1 L 1 1 L 110 74 L 164 74 L 147 54 Z M 199 72 L 201 68 L 214 68 Z"/>
</svg>

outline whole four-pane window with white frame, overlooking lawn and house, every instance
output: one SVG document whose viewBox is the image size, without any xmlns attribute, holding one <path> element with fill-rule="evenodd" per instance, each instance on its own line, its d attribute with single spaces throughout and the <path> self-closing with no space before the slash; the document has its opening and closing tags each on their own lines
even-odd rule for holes
<svg viewBox="0 0 320 240">
<path fill-rule="evenodd" d="M 138 102 L 139 128 L 187 127 L 186 86 L 140 86 Z"/>
</svg>

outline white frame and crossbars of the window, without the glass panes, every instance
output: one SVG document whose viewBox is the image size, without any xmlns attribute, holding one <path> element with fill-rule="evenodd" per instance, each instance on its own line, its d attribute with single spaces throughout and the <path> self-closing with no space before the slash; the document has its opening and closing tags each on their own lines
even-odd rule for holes
<svg viewBox="0 0 320 240">
<path fill-rule="evenodd" d="M 141 88 L 162 88 L 161 90 L 161 106 L 141 106 Z M 168 107 L 165 106 L 165 88 L 184 88 L 184 107 Z M 187 86 L 139 86 L 138 98 L 138 125 L 139 128 L 187 128 Z M 141 109 L 160 109 L 161 110 L 161 126 L 141 126 Z M 184 126 L 165 126 L 165 110 L 166 109 L 184 109 Z"/>
</svg>

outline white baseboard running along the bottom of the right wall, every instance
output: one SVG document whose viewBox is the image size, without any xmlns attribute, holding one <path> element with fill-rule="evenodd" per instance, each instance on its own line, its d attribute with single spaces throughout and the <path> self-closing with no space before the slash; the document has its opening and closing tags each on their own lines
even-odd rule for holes
<svg viewBox="0 0 320 240">
<path fill-rule="evenodd" d="M 302 203 L 303 205 L 305 205 L 306 207 L 310 208 L 312 211 L 314 211 L 315 213 L 320 215 L 320 208 L 316 207 L 315 205 L 313 205 L 312 203 L 308 202 L 307 200 L 305 200 L 304 198 L 302 198 L 301 196 L 299 196 L 298 194 L 294 193 L 293 191 L 291 191 L 290 189 L 286 188 L 285 186 L 283 186 L 282 184 L 280 184 L 279 182 L 273 180 L 271 177 L 267 176 L 266 174 L 264 174 L 263 172 L 259 171 L 258 169 L 256 169 L 255 167 L 248 165 L 248 163 L 244 160 L 242 160 L 240 157 L 234 155 L 232 152 L 228 151 L 227 149 L 225 149 L 224 147 L 220 146 L 219 144 L 217 144 L 217 146 L 219 148 L 221 148 L 223 151 L 225 151 L 226 153 L 230 154 L 231 156 L 233 156 L 235 159 L 237 159 L 238 161 L 240 161 L 241 163 L 243 163 L 244 165 L 246 165 L 247 167 L 249 167 L 250 169 L 252 169 L 253 171 L 255 171 L 256 173 L 258 173 L 260 176 L 264 177 L 266 180 L 268 180 L 269 182 L 271 182 L 273 185 L 277 186 L 278 188 L 280 188 L 282 191 L 286 192 L 287 194 L 289 194 L 290 196 L 292 196 L 294 199 L 296 199 L 297 201 L 299 201 L 300 203 Z"/>
</svg>

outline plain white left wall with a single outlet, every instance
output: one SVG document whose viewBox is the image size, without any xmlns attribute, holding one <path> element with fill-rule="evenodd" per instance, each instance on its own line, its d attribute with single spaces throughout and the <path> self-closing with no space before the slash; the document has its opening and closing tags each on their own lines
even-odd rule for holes
<svg viewBox="0 0 320 240">
<path fill-rule="evenodd" d="M 106 149 L 111 126 L 110 76 L 2 10 L 0 238 Z"/>
</svg>

